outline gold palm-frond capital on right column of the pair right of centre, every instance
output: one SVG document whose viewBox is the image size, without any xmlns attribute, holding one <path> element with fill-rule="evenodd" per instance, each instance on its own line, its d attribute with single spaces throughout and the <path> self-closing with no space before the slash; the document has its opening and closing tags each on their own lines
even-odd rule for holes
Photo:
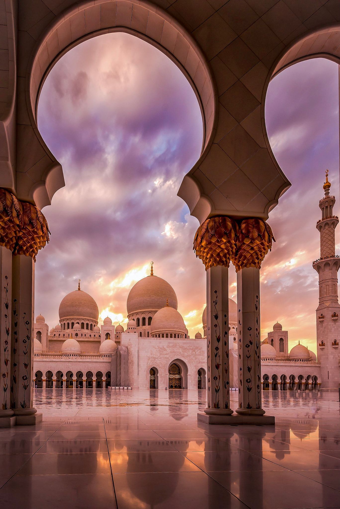
<svg viewBox="0 0 340 509">
<path fill-rule="evenodd" d="M 262 219 L 244 219 L 239 229 L 239 246 L 232 258 L 236 272 L 246 267 L 259 269 L 275 238 L 269 224 Z"/>
</svg>

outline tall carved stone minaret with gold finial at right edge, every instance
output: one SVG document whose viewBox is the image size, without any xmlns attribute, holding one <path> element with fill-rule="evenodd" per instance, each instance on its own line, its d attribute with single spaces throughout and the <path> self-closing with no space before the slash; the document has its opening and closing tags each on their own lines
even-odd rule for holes
<svg viewBox="0 0 340 509">
<path fill-rule="evenodd" d="M 335 197 L 329 195 L 328 169 L 324 183 L 325 196 L 319 207 L 322 218 L 317 222 L 320 232 L 320 259 L 313 262 L 319 274 L 319 306 L 317 309 L 317 351 L 321 362 L 321 388 L 335 389 L 340 384 L 339 348 L 340 305 L 337 296 L 337 271 L 340 258 L 335 254 L 335 228 L 339 222 L 333 215 Z M 320 380 L 319 380 L 320 381 Z"/>
</svg>

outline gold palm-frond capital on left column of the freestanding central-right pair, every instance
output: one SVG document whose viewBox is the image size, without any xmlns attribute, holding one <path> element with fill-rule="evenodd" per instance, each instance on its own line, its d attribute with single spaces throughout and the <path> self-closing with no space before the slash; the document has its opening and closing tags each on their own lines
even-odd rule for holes
<svg viewBox="0 0 340 509">
<path fill-rule="evenodd" d="M 227 216 L 211 217 L 200 225 L 193 249 L 205 270 L 218 265 L 229 267 L 238 246 L 238 233 L 237 222 Z"/>
</svg>

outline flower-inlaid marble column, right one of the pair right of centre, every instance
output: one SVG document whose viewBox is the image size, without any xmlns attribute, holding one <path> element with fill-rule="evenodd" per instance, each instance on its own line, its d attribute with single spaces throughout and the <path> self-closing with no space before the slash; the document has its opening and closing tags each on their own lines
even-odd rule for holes
<svg viewBox="0 0 340 509">
<path fill-rule="evenodd" d="M 261 405 L 259 269 L 237 273 L 239 408 L 238 414 L 264 415 Z"/>
</svg>

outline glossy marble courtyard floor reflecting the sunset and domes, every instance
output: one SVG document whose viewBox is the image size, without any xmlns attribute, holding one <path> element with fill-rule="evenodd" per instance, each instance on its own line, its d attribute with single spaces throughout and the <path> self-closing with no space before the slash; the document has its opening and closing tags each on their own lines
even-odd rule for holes
<svg viewBox="0 0 340 509">
<path fill-rule="evenodd" d="M 198 423 L 205 391 L 36 389 L 43 422 L 0 431 L 0 506 L 340 508 L 338 394 L 263 401 L 275 427 Z"/>
</svg>

